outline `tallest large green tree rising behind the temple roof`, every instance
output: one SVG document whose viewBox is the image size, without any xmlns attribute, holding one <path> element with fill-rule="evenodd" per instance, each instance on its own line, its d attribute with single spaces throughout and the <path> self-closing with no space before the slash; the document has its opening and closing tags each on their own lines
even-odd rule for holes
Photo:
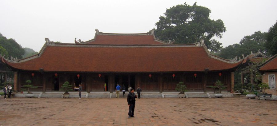
<svg viewBox="0 0 277 126">
<path fill-rule="evenodd" d="M 222 20 L 211 20 L 210 13 L 209 8 L 198 6 L 196 2 L 193 6 L 187 3 L 173 6 L 166 10 L 165 16 L 159 17 L 155 36 L 163 41 L 175 40 L 175 43 L 182 44 L 199 42 L 203 38 L 207 48 L 215 51 L 221 43 L 211 38 L 221 38 L 226 28 Z"/>
</svg>

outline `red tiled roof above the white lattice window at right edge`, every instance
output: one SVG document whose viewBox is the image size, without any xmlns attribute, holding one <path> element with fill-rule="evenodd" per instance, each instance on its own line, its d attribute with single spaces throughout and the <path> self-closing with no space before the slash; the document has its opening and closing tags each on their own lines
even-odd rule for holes
<svg viewBox="0 0 277 126">
<path fill-rule="evenodd" d="M 273 57 L 265 61 L 265 63 L 262 64 L 259 70 L 261 71 L 267 71 L 267 70 L 277 70 L 277 54 L 275 54 Z"/>
</svg>

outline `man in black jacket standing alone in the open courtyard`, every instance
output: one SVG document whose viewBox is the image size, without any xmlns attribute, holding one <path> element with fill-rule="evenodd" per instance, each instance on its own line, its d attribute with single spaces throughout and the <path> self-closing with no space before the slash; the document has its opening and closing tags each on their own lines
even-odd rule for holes
<svg viewBox="0 0 277 126">
<path fill-rule="evenodd" d="M 136 105 L 135 98 L 137 98 L 137 95 L 134 93 L 134 89 L 131 89 L 130 93 L 127 96 L 127 102 L 129 105 L 129 113 L 128 113 L 129 117 L 128 118 L 135 117 L 134 116 L 134 107 Z"/>
</svg>

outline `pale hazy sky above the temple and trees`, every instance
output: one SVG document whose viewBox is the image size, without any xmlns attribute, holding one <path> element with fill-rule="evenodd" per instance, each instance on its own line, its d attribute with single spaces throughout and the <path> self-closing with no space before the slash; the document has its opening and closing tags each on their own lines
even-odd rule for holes
<svg viewBox="0 0 277 126">
<path fill-rule="evenodd" d="M 74 43 L 88 41 L 95 29 L 104 33 L 146 33 L 167 8 L 196 0 L 0 0 L 0 33 L 22 47 L 39 51 L 44 38 Z M 267 32 L 277 20 L 277 0 L 197 0 L 223 20 L 227 32 L 216 38 L 223 46 L 255 31 Z"/>
</svg>

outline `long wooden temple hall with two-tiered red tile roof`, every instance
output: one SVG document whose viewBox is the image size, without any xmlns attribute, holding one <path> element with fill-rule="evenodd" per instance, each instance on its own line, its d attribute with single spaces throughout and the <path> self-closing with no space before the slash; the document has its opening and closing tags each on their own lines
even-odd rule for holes
<svg viewBox="0 0 277 126">
<path fill-rule="evenodd" d="M 205 44 L 174 44 L 155 38 L 154 32 L 138 34 L 102 33 L 89 41 L 54 44 L 46 38 L 41 51 L 25 59 L 2 62 L 14 71 L 14 90 L 26 80 L 38 86 L 33 91 L 59 91 L 65 81 L 72 89 L 82 83 L 87 92 L 113 92 L 117 83 L 143 91 L 175 91 L 183 81 L 188 91 L 214 91 L 220 80 L 223 91 L 233 92 L 234 71 L 243 60 L 226 60 L 209 52 Z M 243 59 L 243 58 L 242 58 Z"/>
</svg>

